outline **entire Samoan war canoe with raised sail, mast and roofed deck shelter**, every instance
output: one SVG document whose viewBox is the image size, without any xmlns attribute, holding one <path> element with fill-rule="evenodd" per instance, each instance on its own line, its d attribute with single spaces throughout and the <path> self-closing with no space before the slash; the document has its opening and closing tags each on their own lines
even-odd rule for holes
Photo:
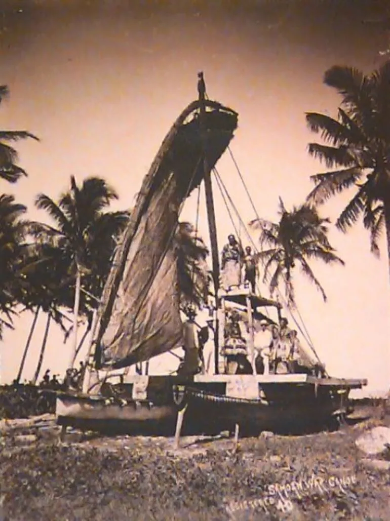
<svg viewBox="0 0 390 521">
<path fill-rule="evenodd" d="M 199 85 L 199 84 L 198 84 Z M 92 326 L 82 389 L 57 392 L 57 422 L 101 432 L 292 431 L 325 425 L 348 413 L 351 389 L 367 380 L 326 374 L 256 374 L 254 327 L 265 310 L 280 321 L 276 301 L 239 287 L 220 287 L 211 172 L 228 148 L 238 114 L 199 99 L 177 118 L 144 178 L 130 222 L 114 255 Z M 214 374 L 130 374 L 130 367 L 182 346 L 173 235 L 180 210 L 204 184 L 213 278 Z M 147 252 L 145 255 L 144 252 Z M 248 324 L 252 374 L 226 374 L 224 324 L 229 306 Z M 267 311 L 267 313 L 268 313 Z"/>
</svg>

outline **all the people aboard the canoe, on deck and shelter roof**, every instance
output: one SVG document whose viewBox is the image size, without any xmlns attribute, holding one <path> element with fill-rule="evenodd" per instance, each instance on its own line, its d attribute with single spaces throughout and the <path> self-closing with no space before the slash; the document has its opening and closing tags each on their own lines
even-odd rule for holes
<svg viewBox="0 0 390 521">
<path fill-rule="evenodd" d="M 225 291 L 239 288 L 241 281 L 250 286 L 255 293 L 258 276 L 258 262 L 251 247 L 243 251 L 241 244 L 233 234 L 222 250 L 221 282 Z M 243 271 L 243 272 L 242 272 Z M 244 312 L 245 314 L 245 312 Z M 208 328 L 198 331 L 197 342 L 194 341 L 191 325 L 194 324 L 195 313 L 190 310 L 189 321 L 185 325 L 185 361 L 179 373 L 208 372 L 203 348 L 208 340 Z M 188 326 L 188 327 L 187 327 Z M 261 320 L 260 328 L 254 331 L 255 370 L 257 374 L 312 373 L 320 374 L 324 368 L 317 364 L 304 351 L 297 337 L 297 331 L 288 327 L 288 320 L 282 318 L 279 325 L 272 321 Z M 253 367 L 248 359 L 249 329 L 245 327 L 242 313 L 238 309 L 226 312 L 224 325 L 224 345 L 221 354 L 225 358 L 227 374 L 252 374 Z M 192 340 L 190 340 L 192 339 Z M 190 345 L 193 346 L 191 350 Z"/>
</svg>

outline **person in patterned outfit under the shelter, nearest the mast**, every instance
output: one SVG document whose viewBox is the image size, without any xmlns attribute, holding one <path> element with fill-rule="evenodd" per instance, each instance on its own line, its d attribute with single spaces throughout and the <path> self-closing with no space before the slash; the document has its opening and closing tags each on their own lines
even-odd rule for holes
<svg viewBox="0 0 390 521">
<path fill-rule="evenodd" d="M 226 374 L 250 375 L 253 369 L 247 358 L 247 342 L 242 336 L 239 313 L 233 309 L 226 318 L 225 345 L 222 349 L 222 354 L 226 357 Z"/>
</svg>

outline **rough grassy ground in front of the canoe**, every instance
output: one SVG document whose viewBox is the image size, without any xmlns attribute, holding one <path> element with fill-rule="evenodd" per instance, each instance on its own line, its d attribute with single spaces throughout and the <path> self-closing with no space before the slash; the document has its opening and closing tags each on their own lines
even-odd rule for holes
<svg viewBox="0 0 390 521">
<path fill-rule="evenodd" d="M 3 510 L 15 521 L 387 521 L 389 472 L 363 466 L 355 445 L 364 425 L 379 423 L 390 421 L 242 439 L 236 452 L 232 439 L 184 438 L 174 452 L 166 438 L 38 439 L 21 447 L 16 437 L 3 435 Z M 287 484 L 295 492 L 288 493 Z"/>
</svg>

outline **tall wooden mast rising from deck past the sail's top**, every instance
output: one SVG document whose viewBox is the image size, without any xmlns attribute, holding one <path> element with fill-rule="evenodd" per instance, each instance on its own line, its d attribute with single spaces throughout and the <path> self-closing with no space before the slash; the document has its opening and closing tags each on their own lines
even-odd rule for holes
<svg viewBox="0 0 390 521">
<path fill-rule="evenodd" d="M 219 297 L 218 292 L 220 289 L 220 263 L 219 263 L 219 250 L 217 242 L 217 230 L 215 224 L 215 210 L 214 210 L 214 199 L 213 189 L 211 184 L 211 173 L 208 168 L 206 147 L 207 139 L 205 132 L 205 84 L 203 80 L 203 72 L 198 73 L 198 93 L 199 93 L 199 108 L 200 108 L 200 131 L 203 148 L 203 172 L 204 172 L 204 189 L 206 196 L 206 209 L 207 218 L 209 222 L 209 233 L 210 233 L 210 244 L 211 244 L 211 258 L 213 262 L 213 282 L 214 282 L 214 293 L 215 293 L 215 324 L 214 324 L 214 370 L 215 374 L 218 374 L 218 354 L 219 354 L 219 320 L 218 320 L 218 307 Z"/>
</svg>

